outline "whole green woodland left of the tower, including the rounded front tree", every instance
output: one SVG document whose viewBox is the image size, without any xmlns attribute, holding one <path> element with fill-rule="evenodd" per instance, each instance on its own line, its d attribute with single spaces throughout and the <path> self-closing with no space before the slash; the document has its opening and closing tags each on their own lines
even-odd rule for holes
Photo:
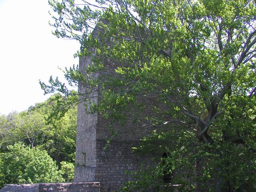
<svg viewBox="0 0 256 192">
<path fill-rule="evenodd" d="M 73 180 L 77 108 L 53 118 L 62 99 L 55 94 L 25 111 L 0 116 L 0 188 Z"/>
</svg>

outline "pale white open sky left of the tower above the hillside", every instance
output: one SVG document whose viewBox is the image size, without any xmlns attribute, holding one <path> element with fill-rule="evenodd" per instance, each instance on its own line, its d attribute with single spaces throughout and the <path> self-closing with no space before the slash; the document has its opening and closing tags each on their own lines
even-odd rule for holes
<svg viewBox="0 0 256 192">
<path fill-rule="evenodd" d="M 48 0 L 0 0 L 0 114 L 45 101 L 39 79 L 78 64 L 79 43 L 52 35 L 49 10 Z"/>
</svg>

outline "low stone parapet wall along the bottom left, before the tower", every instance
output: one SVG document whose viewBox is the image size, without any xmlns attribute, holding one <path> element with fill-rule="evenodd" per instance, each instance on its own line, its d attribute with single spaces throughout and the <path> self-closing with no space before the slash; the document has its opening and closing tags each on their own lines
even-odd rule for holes
<svg viewBox="0 0 256 192">
<path fill-rule="evenodd" d="M 7 184 L 0 192 L 100 192 L 100 183 Z"/>
</svg>

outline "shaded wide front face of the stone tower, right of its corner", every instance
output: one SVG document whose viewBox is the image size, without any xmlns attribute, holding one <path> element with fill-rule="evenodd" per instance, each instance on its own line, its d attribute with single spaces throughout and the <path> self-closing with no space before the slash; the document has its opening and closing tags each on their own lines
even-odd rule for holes
<svg viewBox="0 0 256 192">
<path fill-rule="evenodd" d="M 150 116 L 152 100 L 148 100 L 145 113 Z M 130 112 L 133 114 L 133 111 Z M 98 116 L 96 130 L 96 156 L 95 181 L 101 182 L 101 190 L 110 192 L 123 187 L 128 181 L 133 181 L 131 175 L 125 171 L 138 171 L 141 164 L 144 166 L 155 166 L 158 162 L 152 162 L 150 155 L 138 155 L 132 153 L 132 148 L 139 144 L 143 136 L 147 136 L 154 128 L 142 128 L 139 123 L 127 120 L 126 125 L 120 127 L 117 123 L 113 125 L 114 131 L 120 131 L 117 137 L 111 138 L 110 145 L 106 151 L 102 149 L 106 145 L 105 137 L 110 137 L 108 121 Z M 162 154 L 160 154 L 162 155 Z"/>
</svg>

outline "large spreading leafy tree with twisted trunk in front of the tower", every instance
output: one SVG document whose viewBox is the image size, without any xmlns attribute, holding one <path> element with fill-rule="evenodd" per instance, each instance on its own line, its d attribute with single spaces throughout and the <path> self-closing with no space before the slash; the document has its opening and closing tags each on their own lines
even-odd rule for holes
<svg viewBox="0 0 256 192">
<path fill-rule="evenodd" d="M 174 167 L 192 173 L 197 165 L 191 180 L 185 182 L 182 173 L 176 177 L 184 182 L 181 188 L 192 190 L 197 181 L 198 189 L 206 185 L 215 191 L 245 186 L 253 190 L 255 1 L 50 0 L 49 4 L 56 13 L 54 34 L 78 40 L 77 55 L 93 61 L 86 75 L 77 67 L 66 69 L 70 85 L 87 88 L 81 100 L 58 79 L 50 78 L 50 85 L 40 82 L 45 93 L 57 90 L 67 96 L 61 110 L 90 101 L 99 87 L 99 101 L 91 110 L 123 125 L 134 118 L 129 116 L 131 109 L 143 114 L 142 101 L 154 98 L 155 116 L 138 116 L 134 122 L 173 133 L 160 131 L 143 141 L 150 144 L 157 138 L 161 141 L 159 137 L 165 138 L 163 143 L 172 141 L 176 147 L 165 145 L 165 150 L 173 154 L 169 160 Z M 177 162 L 181 156 L 186 158 Z M 238 165 L 239 169 L 231 169 Z M 155 178 L 162 177 L 162 168 L 156 168 Z"/>
</svg>

